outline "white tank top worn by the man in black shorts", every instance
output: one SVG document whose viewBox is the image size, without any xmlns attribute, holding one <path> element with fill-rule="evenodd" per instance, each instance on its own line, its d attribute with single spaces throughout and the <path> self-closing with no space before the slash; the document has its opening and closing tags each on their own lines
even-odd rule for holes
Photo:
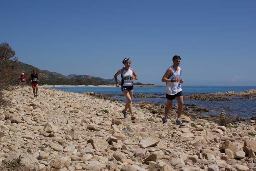
<svg viewBox="0 0 256 171">
<path fill-rule="evenodd" d="M 181 91 L 181 85 L 180 85 L 180 67 L 178 66 L 179 70 L 176 71 L 173 66 L 171 66 L 172 68 L 172 74 L 170 77 L 168 77 L 167 79 L 175 79 L 175 78 L 179 78 L 179 82 L 167 82 L 166 83 L 166 88 L 165 88 L 165 93 L 169 94 L 169 95 L 174 95 L 177 94 Z"/>
</svg>

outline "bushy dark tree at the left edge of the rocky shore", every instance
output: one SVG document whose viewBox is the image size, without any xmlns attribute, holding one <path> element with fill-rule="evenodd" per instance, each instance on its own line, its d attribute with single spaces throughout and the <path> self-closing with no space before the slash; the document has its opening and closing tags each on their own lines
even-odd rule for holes
<svg viewBox="0 0 256 171">
<path fill-rule="evenodd" d="M 14 56 L 15 51 L 8 43 L 0 44 L 0 111 L 11 105 L 12 101 L 12 96 L 5 90 L 11 90 L 12 86 L 18 83 L 18 58 Z"/>
</svg>

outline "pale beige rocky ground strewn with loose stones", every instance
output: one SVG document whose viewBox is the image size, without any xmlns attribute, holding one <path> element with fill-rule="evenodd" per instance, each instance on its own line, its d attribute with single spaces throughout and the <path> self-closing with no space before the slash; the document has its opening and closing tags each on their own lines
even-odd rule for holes
<svg viewBox="0 0 256 171">
<path fill-rule="evenodd" d="M 255 133 L 254 120 L 226 128 L 198 118 L 184 105 L 186 124 L 178 127 L 171 122 L 177 105 L 168 124 L 162 124 L 161 104 L 133 104 L 136 120 L 131 121 L 122 116 L 123 102 L 92 97 L 90 92 L 45 87 L 35 98 L 31 87 L 8 92 L 14 98 L 1 113 L 1 163 L 20 156 L 30 168 L 61 171 L 256 170 L 256 141 L 248 135 Z"/>
</svg>

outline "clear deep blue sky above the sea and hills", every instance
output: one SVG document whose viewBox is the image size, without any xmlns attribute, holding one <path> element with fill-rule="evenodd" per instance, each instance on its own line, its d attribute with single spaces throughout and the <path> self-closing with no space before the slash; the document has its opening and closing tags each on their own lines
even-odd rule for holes
<svg viewBox="0 0 256 171">
<path fill-rule="evenodd" d="M 255 7 L 253 0 L 2 0 L 0 42 L 21 62 L 64 75 L 111 79 L 128 57 L 137 82 L 164 85 L 179 55 L 183 85 L 256 85 Z"/>
</svg>

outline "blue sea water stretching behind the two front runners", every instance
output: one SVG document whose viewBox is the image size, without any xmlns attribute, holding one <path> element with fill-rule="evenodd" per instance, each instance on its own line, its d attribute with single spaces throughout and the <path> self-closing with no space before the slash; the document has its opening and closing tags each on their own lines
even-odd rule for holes
<svg viewBox="0 0 256 171">
<path fill-rule="evenodd" d="M 55 89 L 65 90 L 70 92 L 94 92 L 99 94 L 116 94 L 116 97 L 111 99 L 116 99 L 118 101 L 125 102 L 125 97 L 120 97 L 118 95 L 122 94 L 121 88 L 117 87 L 54 87 Z M 190 94 L 203 94 L 203 93 L 215 93 L 227 91 L 244 92 L 246 90 L 256 89 L 256 86 L 182 86 L 182 93 L 184 96 Z M 154 95 L 156 98 L 132 98 L 132 102 L 140 102 L 142 100 L 149 101 L 150 104 L 162 103 L 166 104 L 167 100 L 165 98 L 165 87 L 134 87 L 133 94 L 138 95 L 143 93 L 144 95 Z M 195 104 L 200 108 L 207 108 L 209 112 L 199 113 L 199 115 L 219 115 L 221 110 L 225 110 L 225 113 L 230 114 L 230 116 L 239 116 L 243 118 L 251 118 L 256 116 L 256 97 L 251 97 L 245 99 L 244 97 L 231 97 L 232 101 L 203 101 L 203 100 L 184 100 L 184 104 Z M 173 100 L 173 105 L 178 104 L 176 100 Z"/>
</svg>

